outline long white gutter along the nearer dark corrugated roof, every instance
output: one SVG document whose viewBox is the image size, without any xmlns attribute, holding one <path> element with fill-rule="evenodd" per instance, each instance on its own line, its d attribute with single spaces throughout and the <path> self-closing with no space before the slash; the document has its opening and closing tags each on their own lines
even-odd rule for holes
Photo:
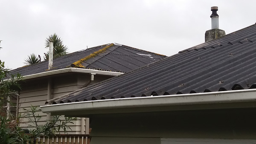
<svg viewBox="0 0 256 144">
<path fill-rule="evenodd" d="M 93 114 L 93 110 L 115 111 L 121 108 L 184 106 L 198 104 L 228 104 L 256 102 L 256 89 L 232 90 L 223 92 L 205 92 L 182 95 L 148 96 L 137 98 L 118 98 L 97 101 L 81 101 L 65 104 L 53 104 L 41 106 L 42 112 L 55 112 L 69 115 L 73 112 L 87 111 Z M 207 105 L 208 107 L 208 105 Z M 125 111 L 128 112 L 128 111 Z M 88 113 L 84 113 L 88 114 Z"/>
</svg>

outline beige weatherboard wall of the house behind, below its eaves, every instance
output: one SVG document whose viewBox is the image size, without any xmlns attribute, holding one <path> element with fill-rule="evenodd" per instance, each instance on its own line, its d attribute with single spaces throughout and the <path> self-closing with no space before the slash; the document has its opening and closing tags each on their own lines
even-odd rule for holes
<svg viewBox="0 0 256 144">
<path fill-rule="evenodd" d="M 104 75 L 95 75 L 94 81 L 90 82 L 89 85 L 95 84 L 96 82 L 106 80 L 113 76 L 104 76 Z M 59 97 L 61 95 L 73 92 L 75 90 L 81 89 L 84 84 L 90 81 L 89 74 L 79 74 L 79 73 L 69 73 L 64 75 L 59 75 L 52 77 L 52 98 Z M 29 109 L 31 105 L 41 106 L 44 105 L 47 101 L 47 87 L 48 87 L 48 78 L 37 78 L 34 80 L 26 80 L 22 84 L 22 90 L 20 90 L 19 95 L 19 113 L 21 115 L 25 114 L 25 109 Z M 42 116 L 39 124 L 44 124 L 47 120 L 47 114 L 38 111 L 38 114 Z M 69 134 L 84 134 L 85 128 L 81 128 L 81 124 L 84 124 L 86 118 L 83 119 L 84 122 L 81 122 L 81 118 L 78 118 L 74 124 L 70 124 L 72 130 L 68 130 Z M 24 129 L 34 128 L 28 127 L 28 118 L 23 118 L 20 122 L 20 126 Z M 81 132 L 83 131 L 83 132 Z"/>
</svg>

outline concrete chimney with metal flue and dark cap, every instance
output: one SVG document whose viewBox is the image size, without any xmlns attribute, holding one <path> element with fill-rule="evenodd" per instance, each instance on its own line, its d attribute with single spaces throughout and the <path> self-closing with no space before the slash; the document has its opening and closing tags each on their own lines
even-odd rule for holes
<svg viewBox="0 0 256 144">
<path fill-rule="evenodd" d="M 205 32 L 205 42 L 226 35 L 224 30 L 219 29 L 219 15 L 217 14 L 218 6 L 212 6 L 211 11 L 212 14 L 210 17 L 212 19 L 212 29 Z"/>
</svg>

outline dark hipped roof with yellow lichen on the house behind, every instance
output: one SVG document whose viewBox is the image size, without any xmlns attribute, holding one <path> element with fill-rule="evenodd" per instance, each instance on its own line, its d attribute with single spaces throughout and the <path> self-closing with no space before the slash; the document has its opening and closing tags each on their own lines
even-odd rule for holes
<svg viewBox="0 0 256 144">
<path fill-rule="evenodd" d="M 54 58 L 53 69 L 50 69 L 50 71 L 76 67 L 112 72 L 128 72 L 165 57 L 165 55 L 144 51 L 142 49 L 110 43 Z M 48 60 L 13 69 L 10 73 L 20 73 L 24 76 L 46 71 L 49 71 Z"/>
</svg>

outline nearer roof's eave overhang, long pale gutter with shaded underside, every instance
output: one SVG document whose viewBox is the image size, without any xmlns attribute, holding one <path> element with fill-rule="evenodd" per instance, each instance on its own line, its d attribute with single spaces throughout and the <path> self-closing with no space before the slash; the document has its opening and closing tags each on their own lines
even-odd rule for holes
<svg viewBox="0 0 256 144">
<path fill-rule="evenodd" d="M 83 117 L 95 114 L 191 109 L 245 108 L 256 105 L 256 89 L 182 95 L 118 98 L 41 106 L 52 115 Z"/>
</svg>

